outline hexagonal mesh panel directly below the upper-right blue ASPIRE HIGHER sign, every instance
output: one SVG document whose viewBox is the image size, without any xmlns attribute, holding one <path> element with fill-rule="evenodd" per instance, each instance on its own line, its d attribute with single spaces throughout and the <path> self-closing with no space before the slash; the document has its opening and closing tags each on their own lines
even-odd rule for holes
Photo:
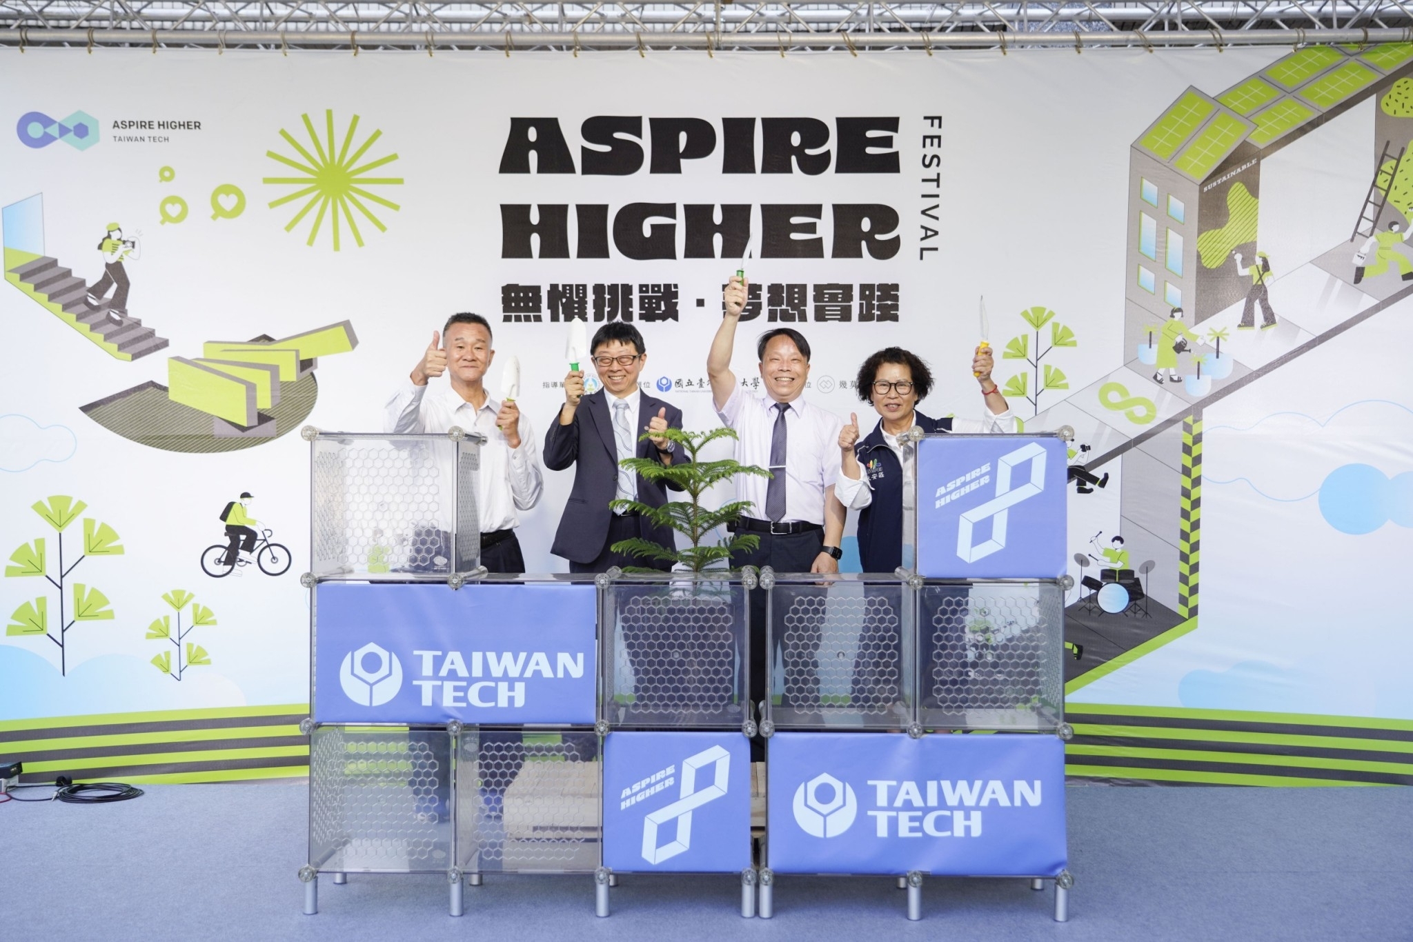
<svg viewBox="0 0 1413 942">
<path fill-rule="evenodd" d="M 924 585 L 923 723 L 1057 727 L 1064 719 L 1061 597 L 1048 583 Z"/>
</svg>

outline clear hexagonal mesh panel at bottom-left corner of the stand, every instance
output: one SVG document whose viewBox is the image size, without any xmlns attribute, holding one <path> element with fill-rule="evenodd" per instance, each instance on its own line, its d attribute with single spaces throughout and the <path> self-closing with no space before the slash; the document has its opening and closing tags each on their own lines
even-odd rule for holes
<svg viewBox="0 0 1413 942">
<path fill-rule="evenodd" d="M 309 861 L 319 870 L 451 867 L 451 737 L 321 726 L 309 737 Z"/>
</svg>

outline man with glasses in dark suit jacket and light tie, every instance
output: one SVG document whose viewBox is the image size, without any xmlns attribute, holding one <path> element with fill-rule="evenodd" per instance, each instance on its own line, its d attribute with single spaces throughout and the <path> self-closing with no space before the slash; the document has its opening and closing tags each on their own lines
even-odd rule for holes
<svg viewBox="0 0 1413 942">
<path fill-rule="evenodd" d="M 644 480 L 619 466 L 625 458 L 650 458 L 671 465 L 682 460 L 666 438 L 639 441 L 643 432 L 682 427 L 682 411 L 643 393 L 637 377 L 647 363 L 643 335 L 630 323 L 609 322 L 593 335 L 591 360 L 603 388 L 584 394 L 584 371 L 564 378 L 564 407 L 544 436 L 544 465 L 565 470 L 575 465 L 574 490 L 560 518 L 550 548 L 569 561 L 569 572 L 606 572 L 609 566 L 651 566 L 666 562 L 613 552 L 620 539 L 642 537 L 671 549 L 671 527 L 654 527 L 646 517 L 609 508 L 615 499 L 637 500 L 650 507 L 667 503 L 661 482 Z"/>
</svg>

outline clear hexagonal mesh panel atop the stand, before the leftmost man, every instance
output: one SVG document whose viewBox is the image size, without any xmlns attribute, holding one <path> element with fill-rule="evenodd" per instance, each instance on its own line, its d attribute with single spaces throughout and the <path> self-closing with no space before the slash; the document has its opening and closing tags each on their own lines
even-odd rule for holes
<svg viewBox="0 0 1413 942">
<path fill-rule="evenodd" d="M 396 578 L 476 566 L 478 465 L 476 442 L 442 435 L 319 436 L 314 442 L 314 573 Z"/>
</svg>

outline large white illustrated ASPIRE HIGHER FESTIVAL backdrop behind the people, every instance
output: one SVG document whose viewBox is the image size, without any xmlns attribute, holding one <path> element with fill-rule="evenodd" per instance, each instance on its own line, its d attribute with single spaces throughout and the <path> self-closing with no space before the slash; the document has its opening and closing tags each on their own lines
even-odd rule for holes
<svg viewBox="0 0 1413 942">
<path fill-rule="evenodd" d="M 458 311 L 492 322 L 493 397 L 519 360 L 530 462 L 574 323 L 639 328 L 640 384 L 715 428 L 705 352 L 745 270 L 746 391 L 756 338 L 791 326 L 805 398 L 865 434 L 859 366 L 889 346 L 930 366 L 921 411 L 981 418 L 986 339 L 1026 431 L 1075 431 L 1070 774 L 1413 781 L 1344 758 L 1413 732 L 1413 161 L 1388 157 L 1413 141 L 1413 47 L 0 49 L 0 746 L 148 722 L 167 751 L 49 757 L 298 774 L 247 732 L 308 713 L 297 431 L 382 431 Z M 516 511 L 534 572 L 568 568 L 571 482 L 545 470 Z M 541 650 L 519 641 L 495 650 Z M 1272 763 L 1301 723 L 1328 754 Z M 1241 741 L 1152 734 L 1194 725 Z"/>
</svg>

